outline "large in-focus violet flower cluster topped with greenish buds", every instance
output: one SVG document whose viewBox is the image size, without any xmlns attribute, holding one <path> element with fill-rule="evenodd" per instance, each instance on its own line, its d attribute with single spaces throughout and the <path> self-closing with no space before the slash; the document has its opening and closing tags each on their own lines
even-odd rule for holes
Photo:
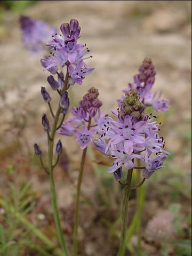
<svg viewBox="0 0 192 256">
<path fill-rule="evenodd" d="M 162 167 L 166 155 L 169 155 L 164 150 L 163 137 L 159 137 L 156 116 L 149 116 L 144 110 L 145 105 L 137 91 L 129 90 L 118 111 L 113 111 L 116 120 L 108 117 L 100 125 L 100 138 L 93 142 L 101 153 L 114 158 L 108 172 L 114 173 L 117 181 L 123 176 L 123 165 L 127 170 L 137 167 L 135 159 L 139 158 L 145 163 L 143 178 L 149 178 Z"/>
</svg>

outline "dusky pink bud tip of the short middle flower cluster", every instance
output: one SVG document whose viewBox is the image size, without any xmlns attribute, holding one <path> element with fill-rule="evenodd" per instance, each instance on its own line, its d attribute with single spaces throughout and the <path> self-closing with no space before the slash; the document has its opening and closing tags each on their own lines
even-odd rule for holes
<svg viewBox="0 0 192 256">
<path fill-rule="evenodd" d="M 79 102 L 81 108 L 85 113 L 89 113 L 90 117 L 94 117 L 98 109 L 102 106 L 102 102 L 98 99 L 99 91 L 94 87 L 84 95 L 83 100 Z"/>
</svg>

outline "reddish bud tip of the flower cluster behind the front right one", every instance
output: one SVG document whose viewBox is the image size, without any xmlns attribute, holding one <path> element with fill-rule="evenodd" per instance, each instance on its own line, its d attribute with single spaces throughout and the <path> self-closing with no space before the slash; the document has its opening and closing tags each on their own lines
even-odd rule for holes
<svg viewBox="0 0 192 256">
<path fill-rule="evenodd" d="M 150 58 L 145 58 L 139 68 L 139 74 L 134 76 L 134 82 L 145 87 L 146 85 L 153 85 L 155 82 L 156 71 Z"/>
</svg>

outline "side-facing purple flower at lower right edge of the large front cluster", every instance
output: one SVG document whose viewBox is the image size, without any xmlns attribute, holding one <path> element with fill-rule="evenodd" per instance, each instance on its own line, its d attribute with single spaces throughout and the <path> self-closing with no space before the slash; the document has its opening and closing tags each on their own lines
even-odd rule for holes
<svg viewBox="0 0 192 256">
<path fill-rule="evenodd" d="M 150 158 L 149 156 L 150 154 L 146 152 L 146 156 L 145 156 L 146 167 L 142 173 L 143 178 L 146 178 L 146 179 L 149 178 L 151 174 L 155 172 L 155 170 L 160 169 L 163 165 L 163 162 L 166 159 L 166 156 L 163 156 L 163 155 L 158 155 L 155 158 Z"/>
</svg>

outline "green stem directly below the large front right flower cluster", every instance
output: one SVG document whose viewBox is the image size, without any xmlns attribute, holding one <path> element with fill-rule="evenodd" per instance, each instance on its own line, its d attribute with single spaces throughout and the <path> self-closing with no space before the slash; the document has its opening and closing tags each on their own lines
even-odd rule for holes
<svg viewBox="0 0 192 256">
<path fill-rule="evenodd" d="M 127 171 L 126 186 L 124 188 L 123 204 L 122 204 L 122 227 L 121 227 L 121 238 L 118 256 L 125 255 L 125 237 L 127 229 L 127 211 L 128 211 L 128 202 L 131 188 L 131 179 L 132 179 L 133 169 Z"/>
</svg>

